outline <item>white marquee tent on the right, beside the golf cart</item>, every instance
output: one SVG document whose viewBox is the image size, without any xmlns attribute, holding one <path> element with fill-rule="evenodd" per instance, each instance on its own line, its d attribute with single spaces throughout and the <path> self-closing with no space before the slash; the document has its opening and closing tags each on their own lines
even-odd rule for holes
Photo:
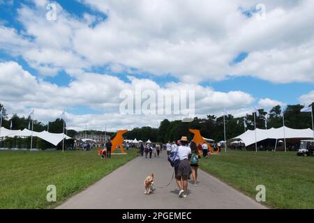
<svg viewBox="0 0 314 223">
<path fill-rule="evenodd" d="M 292 128 L 285 127 L 285 133 L 283 131 L 283 127 L 281 128 L 271 128 L 269 130 L 256 129 L 256 141 L 263 141 L 264 139 L 313 139 L 313 130 L 310 128 L 297 130 Z M 241 140 L 246 144 L 246 146 L 250 146 L 255 144 L 255 130 L 247 130 L 244 134 L 240 134 L 238 137 L 234 137 L 230 139 L 230 141 Z"/>
</svg>

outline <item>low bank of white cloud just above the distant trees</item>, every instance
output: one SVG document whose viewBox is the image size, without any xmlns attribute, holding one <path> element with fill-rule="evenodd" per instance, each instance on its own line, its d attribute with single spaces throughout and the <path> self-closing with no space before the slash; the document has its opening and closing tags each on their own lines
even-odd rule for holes
<svg viewBox="0 0 314 223">
<path fill-rule="evenodd" d="M 198 84 L 168 83 L 159 86 L 150 79 L 129 77 L 130 83 L 117 77 L 97 73 L 84 73 L 73 79 L 68 86 L 57 86 L 36 79 L 22 66 L 15 62 L 0 63 L 0 94 L 1 100 L 10 114 L 17 113 L 27 116 L 31 109 L 36 109 L 36 118 L 40 121 L 52 121 L 60 117 L 63 109 L 68 112 L 68 125 L 82 129 L 85 123 L 90 128 L 101 129 L 105 123 L 108 128 L 134 128 L 151 125 L 158 127 L 164 118 L 171 120 L 182 118 L 182 115 L 123 115 L 119 105 L 123 101 L 119 93 L 141 86 L 158 95 L 158 90 L 195 91 L 195 115 L 206 117 L 207 114 L 219 114 L 223 107 L 230 111 L 239 112 L 254 102 L 254 98 L 242 91 L 220 92 Z M 142 96 L 142 95 L 141 95 Z M 144 102 L 144 98 L 142 98 Z M 157 101 L 156 101 L 157 102 Z M 173 106 L 174 101 L 172 101 Z M 157 104 L 158 106 L 158 104 Z M 70 111 L 75 107 L 88 107 L 99 114 L 75 115 Z"/>
</svg>

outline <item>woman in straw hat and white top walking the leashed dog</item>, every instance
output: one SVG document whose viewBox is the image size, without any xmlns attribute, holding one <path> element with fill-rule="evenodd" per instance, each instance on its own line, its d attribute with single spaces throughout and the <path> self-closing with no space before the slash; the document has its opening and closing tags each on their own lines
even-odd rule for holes
<svg viewBox="0 0 314 223">
<path fill-rule="evenodd" d="M 178 148 L 178 157 L 180 159 L 178 167 L 174 168 L 177 185 L 179 187 L 179 197 L 186 197 L 188 192 L 188 176 L 190 175 L 190 162 L 188 157 L 191 154 L 188 145 L 188 137 L 181 138 L 181 145 Z"/>
</svg>

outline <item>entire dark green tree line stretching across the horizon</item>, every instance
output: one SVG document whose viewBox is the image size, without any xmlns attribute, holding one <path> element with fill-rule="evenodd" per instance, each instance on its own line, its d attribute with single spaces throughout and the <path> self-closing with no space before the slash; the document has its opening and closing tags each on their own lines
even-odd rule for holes
<svg viewBox="0 0 314 223">
<path fill-rule="evenodd" d="M 312 108 L 314 103 L 312 104 Z M 284 109 L 283 114 L 285 116 L 285 126 L 289 128 L 312 128 L 311 124 L 311 112 L 300 112 L 304 108 L 304 105 L 287 105 Z M 3 109 L 3 121 L 2 126 L 10 129 L 10 123 L 12 122 L 12 130 L 23 130 L 29 127 L 31 123 L 31 117 L 20 117 L 14 114 L 11 118 L 6 115 L 6 109 L 0 103 L 0 110 Z M 283 117 L 281 112 L 283 107 L 277 105 L 273 107 L 269 112 L 264 109 L 259 109 L 260 116 L 256 116 L 256 127 L 265 129 L 265 121 L 267 128 L 281 128 L 283 126 Z M 225 127 L 227 139 L 237 137 L 239 134 L 244 133 L 244 119 L 246 120 L 246 130 L 254 130 L 254 116 L 253 114 L 246 114 L 242 117 L 234 117 L 231 114 L 225 116 Z M 55 121 L 49 122 L 49 124 L 41 123 L 40 121 L 34 120 L 33 130 L 41 132 L 47 131 L 49 125 L 49 132 L 51 133 L 62 133 L 63 132 L 63 119 L 57 118 Z M 215 141 L 222 141 L 224 139 L 223 132 L 223 116 L 207 115 L 207 118 L 195 117 L 192 122 L 185 123 L 182 121 L 169 121 L 167 119 L 160 122 L 158 128 L 151 128 L 145 126 L 142 128 L 134 128 L 124 134 L 125 139 L 137 139 L 147 141 L 150 139 L 155 142 L 167 142 L 177 141 L 182 136 L 187 136 L 188 139 L 193 138 L 193 134 L 188 130 L 198 129 L 200 130 L 203 137 L 214 139 Z M 77 132 L 75 130 L 67 131 L 69 137 L 75 137 L 76 134 L 84 134 L 85 131 Z M 87 130 L 87 134 L 105 134 L 104 131 L 98 130 Z M 115 132 L 106 132 L 110 137 L 115 136 Z M 50 146 L 50 145 L 49 145 Z"/>
</svg>

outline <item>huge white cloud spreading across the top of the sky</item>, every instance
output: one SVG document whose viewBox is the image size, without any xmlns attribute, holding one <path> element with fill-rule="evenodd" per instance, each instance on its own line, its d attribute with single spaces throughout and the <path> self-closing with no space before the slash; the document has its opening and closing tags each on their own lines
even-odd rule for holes
<svg viewBox="0 0 314 223">
<path fill-rule="evenodd" d="M 57 21 L 47 21 L 47 1 L 34 0 L 36 8 L 18 10 L 24 36 L 0 30 L 8 37 L 0 46 L 20 52 L 43 75 L 59 70 L 76 75 L 110 65 L 113 70 L 171 74 L 187 83 L 227 75 L 276 83 L 313 82 L 311 0 L 263 1 L 265 21 L 241 14 L 239 8 L 255 8 L 259 2 L 253 0 L 81 1 L 106 13 L 107 20 L 91 26 L 93 15 L 78 19 L 57 4 Z M 240 52 L 248 52 L 246 61 L 230 66 Z"/>
</svg>

